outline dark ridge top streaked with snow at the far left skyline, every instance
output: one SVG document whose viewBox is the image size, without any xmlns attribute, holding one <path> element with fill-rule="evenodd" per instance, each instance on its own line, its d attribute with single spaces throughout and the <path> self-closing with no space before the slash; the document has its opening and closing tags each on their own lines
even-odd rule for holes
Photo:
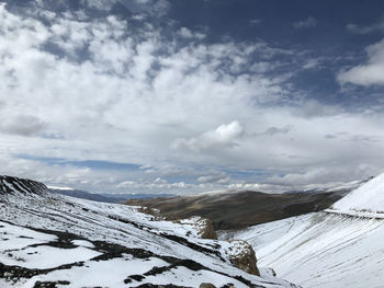
<svg viewBox="0 0 384 288">
<path fill-rule="evenodd" d="M 0 175 L 0 194 L 45 195 L 50 191 L 43 183 Z"/>
</svg>

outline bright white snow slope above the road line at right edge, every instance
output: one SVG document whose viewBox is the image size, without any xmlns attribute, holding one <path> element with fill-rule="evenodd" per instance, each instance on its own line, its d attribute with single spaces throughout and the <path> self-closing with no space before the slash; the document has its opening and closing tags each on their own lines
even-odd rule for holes
<svg viewBox="0 0 384 288">
<path fill-rule="evenodd" d="M 346 197 L 335 203 L 330 211 L 384 217 L 384 173 L 371 178 Z"/>
</svg>

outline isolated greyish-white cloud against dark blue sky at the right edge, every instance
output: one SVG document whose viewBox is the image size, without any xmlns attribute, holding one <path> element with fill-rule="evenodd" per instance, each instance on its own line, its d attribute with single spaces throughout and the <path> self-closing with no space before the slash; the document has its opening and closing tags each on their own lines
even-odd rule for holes
<svg viewBox="0 0 384 288">
<path fill-rule="evenodd" d="M 368 46 L 368 62 L 358 65 L 339 72 L 339 83 L 352 83 L 357 85 L 383 85 L 384 84 L 384 39 Z"/>
</svg>

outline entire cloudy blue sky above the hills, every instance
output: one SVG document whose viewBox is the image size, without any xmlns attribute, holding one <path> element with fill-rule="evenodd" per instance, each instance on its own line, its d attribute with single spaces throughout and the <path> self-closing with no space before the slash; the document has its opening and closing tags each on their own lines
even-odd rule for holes
<svg viewBox="0 0 384 288">
<path fill-rule="evenodd" d="M 384 171 L 383 1 L 0 1 L 0 174 L 191 194 Z"/>
</svg>

